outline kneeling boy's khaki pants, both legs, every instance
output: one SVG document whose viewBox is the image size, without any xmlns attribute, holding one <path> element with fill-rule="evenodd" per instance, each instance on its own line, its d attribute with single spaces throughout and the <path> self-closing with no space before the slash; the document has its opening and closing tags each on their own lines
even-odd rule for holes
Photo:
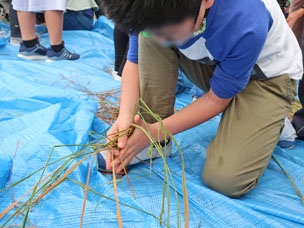
<svg viewBox="0 0 304 228">
<path fill-rule="evenodd" d="M 162 118 L 174 113 L 179 66 L 199 88 L 206 92 L 210 89 L 214 67 L 139 38 L 141 97 Z M 288 75 L 250 80 L 232 100 L 207 150 L 202 178 L 208 187 L 239 197 L 257 185 L 279 140 L 295 90 L 296 82 Z M 152 122 L 149 116 L 145 119 Z"/>
</svg>

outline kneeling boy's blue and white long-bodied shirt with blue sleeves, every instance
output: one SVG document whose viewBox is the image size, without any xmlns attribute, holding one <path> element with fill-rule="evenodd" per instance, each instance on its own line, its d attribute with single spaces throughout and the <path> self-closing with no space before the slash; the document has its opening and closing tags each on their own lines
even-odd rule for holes
<svg viewBox="0 0 304 228">
<path fill-rule="evenodd" d="M 273 17 L 277 20 L 275 26 Z M 218 97 L 232 98 L 247 86 L 251 75 L 256 73 L 254 67 L 259 72 L 267 72 L 266 78 L 278 76 L 276 70 L 280 66 L 270 61 L 265 66 L 261 64 L 261 69 L 256 63 L 259 56 L 263 60 L 260 62 L 278 58 L 278 50 L 272 48 L 271 40 L 280 38 L 279 28 L 288 34 L 284 40 L 281 39 L 282 45 L 290 44 L 292 32 L 275 0 L 215 0 L 206 18 L 205 31 L 177 48 L 189 59 L 215 64 L 210 86 Z M 264 48 L 268 37 L 268 45 Z M 296 50 L 298 54 L 294 46 L 289 46 L 289 49 Z M 138 63 L 137 35 L 131 35 L 128 60 Z M 300 71 L 297 67 L 297 72 L 290 74 L 294 73 L 296 78 Z"/>
</svg>

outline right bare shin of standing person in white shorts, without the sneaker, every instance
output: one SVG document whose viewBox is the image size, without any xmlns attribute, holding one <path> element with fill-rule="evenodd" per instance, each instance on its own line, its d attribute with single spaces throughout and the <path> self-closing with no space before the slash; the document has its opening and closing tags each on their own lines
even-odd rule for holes
<svg viewBox="0 0 304 228">
<path fill-rule="evenodd" d="M 57 10 L 46 11 L 44 16 L 51 46 L 62 44 L 63 12 Z"/>
</svg>

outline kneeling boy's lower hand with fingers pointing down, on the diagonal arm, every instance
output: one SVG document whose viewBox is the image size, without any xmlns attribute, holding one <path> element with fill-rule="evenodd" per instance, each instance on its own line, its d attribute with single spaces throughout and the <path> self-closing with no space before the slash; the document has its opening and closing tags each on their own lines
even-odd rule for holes
<svg viewBox="0 0 304 228">
<path fill-rule="evenodd" d="M 144 123 L 139 116 L 135 116 L 134 124 L 147 131 L 151 131 L 152 126 L 155 126 Z M 141 129 L 135 127 L 135 130 L 129 139 L 124 138 L 120 143 L 119 151 L 114 151 L 114 161 L 112 161 L 112 154 L 108 154 L 110 157 L 107 159 L 107 168 L 108 166 L 110 168 L 114 166 L 116 173 L 120 173 L 127 167 L 131 160 L 149 145 L 150 140 Z"/>
</svg>

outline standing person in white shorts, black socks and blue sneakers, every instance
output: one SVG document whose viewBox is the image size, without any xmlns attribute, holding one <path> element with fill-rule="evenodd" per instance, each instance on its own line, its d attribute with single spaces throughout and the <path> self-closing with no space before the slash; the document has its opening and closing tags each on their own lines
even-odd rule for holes
<svg viewBox="0 0 304 228">
<path fill-rule="evenodd" d="M 66 1 L 13 0 L 13 9 L 17 11 L 21 30 L 20 58 L 28 60 L 46 59 L 47 62 L 57 60 L 76 60 L 80 56 L 65 48 L 62 40 L 63 12 Z M 46 48 L 39 43 L 36 36 L 36 12 L 44 12 L 51 47 Z"/>
</svg>

